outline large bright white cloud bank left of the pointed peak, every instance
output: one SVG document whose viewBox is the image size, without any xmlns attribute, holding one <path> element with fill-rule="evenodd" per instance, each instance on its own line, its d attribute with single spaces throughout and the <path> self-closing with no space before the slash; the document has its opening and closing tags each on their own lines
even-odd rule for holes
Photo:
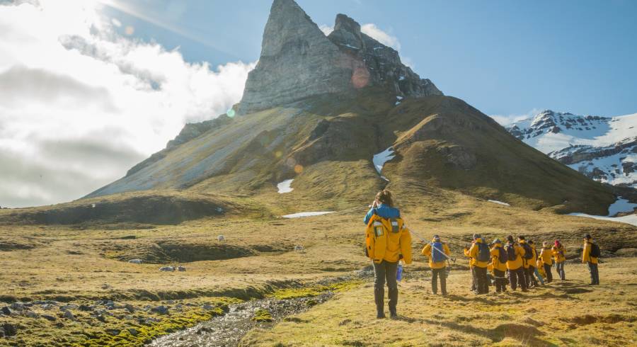
<svg viewBox="0 0 637 347">
<path fill-rule="evenodd" d="M 94 1 L 0 5 L 0 205 L 80 198 L 241 99 L 254 63 L 214 71 L 118 35 Z"/>
</svg>

